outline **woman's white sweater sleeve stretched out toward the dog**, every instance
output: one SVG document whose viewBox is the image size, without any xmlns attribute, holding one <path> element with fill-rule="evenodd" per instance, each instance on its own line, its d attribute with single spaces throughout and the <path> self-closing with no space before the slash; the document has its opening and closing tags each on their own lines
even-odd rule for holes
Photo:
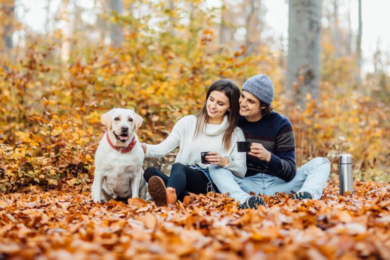
<svg viewBox="0 0 390 260">
<path fill-rule="evenodd" d="M 175 149 L 180 144 L 183 133 L 181 127 L 182 124 L 182 119 L 180 119 L 173 126 L 171 134 L 169 134 L 167 139 L 165 139 L 163 142 L 156 145 L 147 144 L 145 157 L 160 158 Z"/>
</svg>

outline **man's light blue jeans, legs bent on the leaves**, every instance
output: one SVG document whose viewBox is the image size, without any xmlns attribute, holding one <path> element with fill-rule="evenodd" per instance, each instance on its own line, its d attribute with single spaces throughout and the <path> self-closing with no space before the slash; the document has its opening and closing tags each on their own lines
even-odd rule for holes
<svg viewBox="0 0 390 260">
<path fill-rule="evenodd" d="M 327 183 L 330 172 L 331 163 L 322 157 L 314 158 L 304 164 L 290 182 L 265 173 L 241 179 L 225 168 L 209 166 L 211 179 L 220 192 L 229 192 L 229 197 L 235 198 L 241 204 L 250 197 L 250 191 L 263 195 L 273 195 L 283 191 L 287 194 L 291 191 L 308 191 L 314 195 L 314 199 L 318 200 L 322 196 L 322 189 Z"/>
</svg>

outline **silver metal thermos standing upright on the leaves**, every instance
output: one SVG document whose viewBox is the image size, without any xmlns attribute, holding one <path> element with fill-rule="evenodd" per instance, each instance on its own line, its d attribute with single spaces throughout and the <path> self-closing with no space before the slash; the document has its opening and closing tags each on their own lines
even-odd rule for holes
<svg viewBox="0 0 390 260">
<path fill-rule="evenodd" d="M 353 177 L 352 177 L 352 155 L 349 153 L 340 154 L 339 161 L 340 195 L 344 196 L 345 191 L 349 190 L 352 195 Z"/>
</svg>

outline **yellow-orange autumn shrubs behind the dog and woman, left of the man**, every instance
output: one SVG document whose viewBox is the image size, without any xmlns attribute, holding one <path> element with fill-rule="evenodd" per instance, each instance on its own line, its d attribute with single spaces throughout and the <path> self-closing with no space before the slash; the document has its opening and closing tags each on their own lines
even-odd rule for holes
<svg viewBox="0 0 390 260">
<path fill-rule="evenodd" d="M 145 119 L 141 141 L 159 142 L 178 118 L 200 109 L 214 80 L 240 80 L 256 68 L 271 73 L 266 67 L 274 67 L 265 57 L 243 57 L 242 51 L 209 55 L 204 51 L 212 32 L 201 35 L 188 57 L 167 46 L 146 51 L 151 45 L 142 38 L 57 64 L 54 47 L 32 45 L 20 63 L 6 64 L 0 71 L 1 189 L 89 185 L 105 111 L 135 109 Z"/>
</svg>

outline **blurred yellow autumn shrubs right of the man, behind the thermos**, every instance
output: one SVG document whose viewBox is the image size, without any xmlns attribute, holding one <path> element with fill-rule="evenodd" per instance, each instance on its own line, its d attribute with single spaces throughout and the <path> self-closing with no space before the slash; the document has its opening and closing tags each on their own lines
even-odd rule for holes
<svg viewBox="0 0 390 260">
<path fill-rule="evenodd" d="M 294 105 L 288 111 L 296 135 L 297 165 L 323 156 L 331 160 L 332 173 L 338 174 L 339 155 L 350 153 L 356 180 L 388 180 L 388 109 L 356 91 L 340 94 L 322 82 L 320 102 L 308 94 L 303 112 Z"/>
</svg>

